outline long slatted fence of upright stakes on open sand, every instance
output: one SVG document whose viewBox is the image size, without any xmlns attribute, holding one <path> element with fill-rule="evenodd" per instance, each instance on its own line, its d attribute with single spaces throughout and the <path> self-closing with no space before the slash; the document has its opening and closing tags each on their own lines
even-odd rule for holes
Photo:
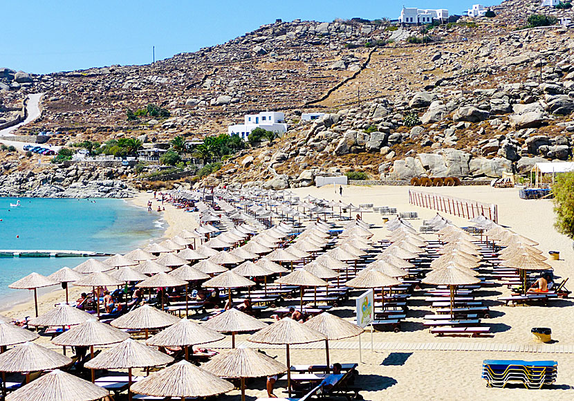
<svg viewBox="0 0 574 401">
<path fill-rule="evenodd" d="M 481 214 L 498 223 L 498 205 L 453 198 L 452 196 L 431 194 L 409 189 L 409 203 L 438 212 L 453 214 L 463 218 L 474 218 Z"/>
</svg>

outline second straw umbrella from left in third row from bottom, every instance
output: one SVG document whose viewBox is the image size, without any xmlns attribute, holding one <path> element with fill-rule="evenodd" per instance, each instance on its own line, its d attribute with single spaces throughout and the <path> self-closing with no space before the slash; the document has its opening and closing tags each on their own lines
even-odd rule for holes
<svg viewBox="0 0 574 401">
<path fill-rule="evenodd" d="M 89 346 L 93 357 L 93 347 L 97 345 L 115 344 L 128 339 L 129 334 L 113 328 L 109 324 L 101 323 L 96 319 L 88 319 L 82 324 L 52 339 L 52 344 L 61 346 Z M 95 371 L 91 369 L 92 383 L 95 380 Z"/>
</svg>

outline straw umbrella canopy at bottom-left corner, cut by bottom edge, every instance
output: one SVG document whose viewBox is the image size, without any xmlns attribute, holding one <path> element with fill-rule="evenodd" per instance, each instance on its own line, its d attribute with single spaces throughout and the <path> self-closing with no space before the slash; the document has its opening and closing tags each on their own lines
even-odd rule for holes
<svg viewBox="0 0 574 401">
<path fill-rule="evenodd" d="M 58 369 L 38 377 L 6 396 L 6 401 L 94 401 L 109 391 Z"/>
</svg>

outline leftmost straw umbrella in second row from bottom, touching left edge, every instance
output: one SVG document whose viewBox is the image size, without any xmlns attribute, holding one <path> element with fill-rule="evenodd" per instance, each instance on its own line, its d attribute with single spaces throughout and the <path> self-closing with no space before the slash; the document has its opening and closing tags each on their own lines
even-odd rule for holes
<svg viewBox="0 0 574 401">
<path fill-rule="evenodd" d="M 66 355 L 33 342 L 25 342 L 0 355 L 0 372 L 26 373 L 26 383 L 28 383 L 30 372 L 57 369 L 71 363 L 72 360 Z"/>
</svg>

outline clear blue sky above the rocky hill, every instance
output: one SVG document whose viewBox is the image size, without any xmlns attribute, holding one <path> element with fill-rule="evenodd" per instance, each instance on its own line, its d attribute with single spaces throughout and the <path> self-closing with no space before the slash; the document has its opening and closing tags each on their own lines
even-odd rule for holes
<svg viewBox="0 0 574 401">
<path fill-rule="evenodd" d="M 148 64 L 221 44 L 277 18 L 333 21 L 396 19 L 407 7 L 447 8 L 477 0 L 18 0 L 1 21 L 0 67 L 29 73 L 71 71 L 111 64 Z M 481 2 L 484 5 L 495 0 Z"/>
</svg>

